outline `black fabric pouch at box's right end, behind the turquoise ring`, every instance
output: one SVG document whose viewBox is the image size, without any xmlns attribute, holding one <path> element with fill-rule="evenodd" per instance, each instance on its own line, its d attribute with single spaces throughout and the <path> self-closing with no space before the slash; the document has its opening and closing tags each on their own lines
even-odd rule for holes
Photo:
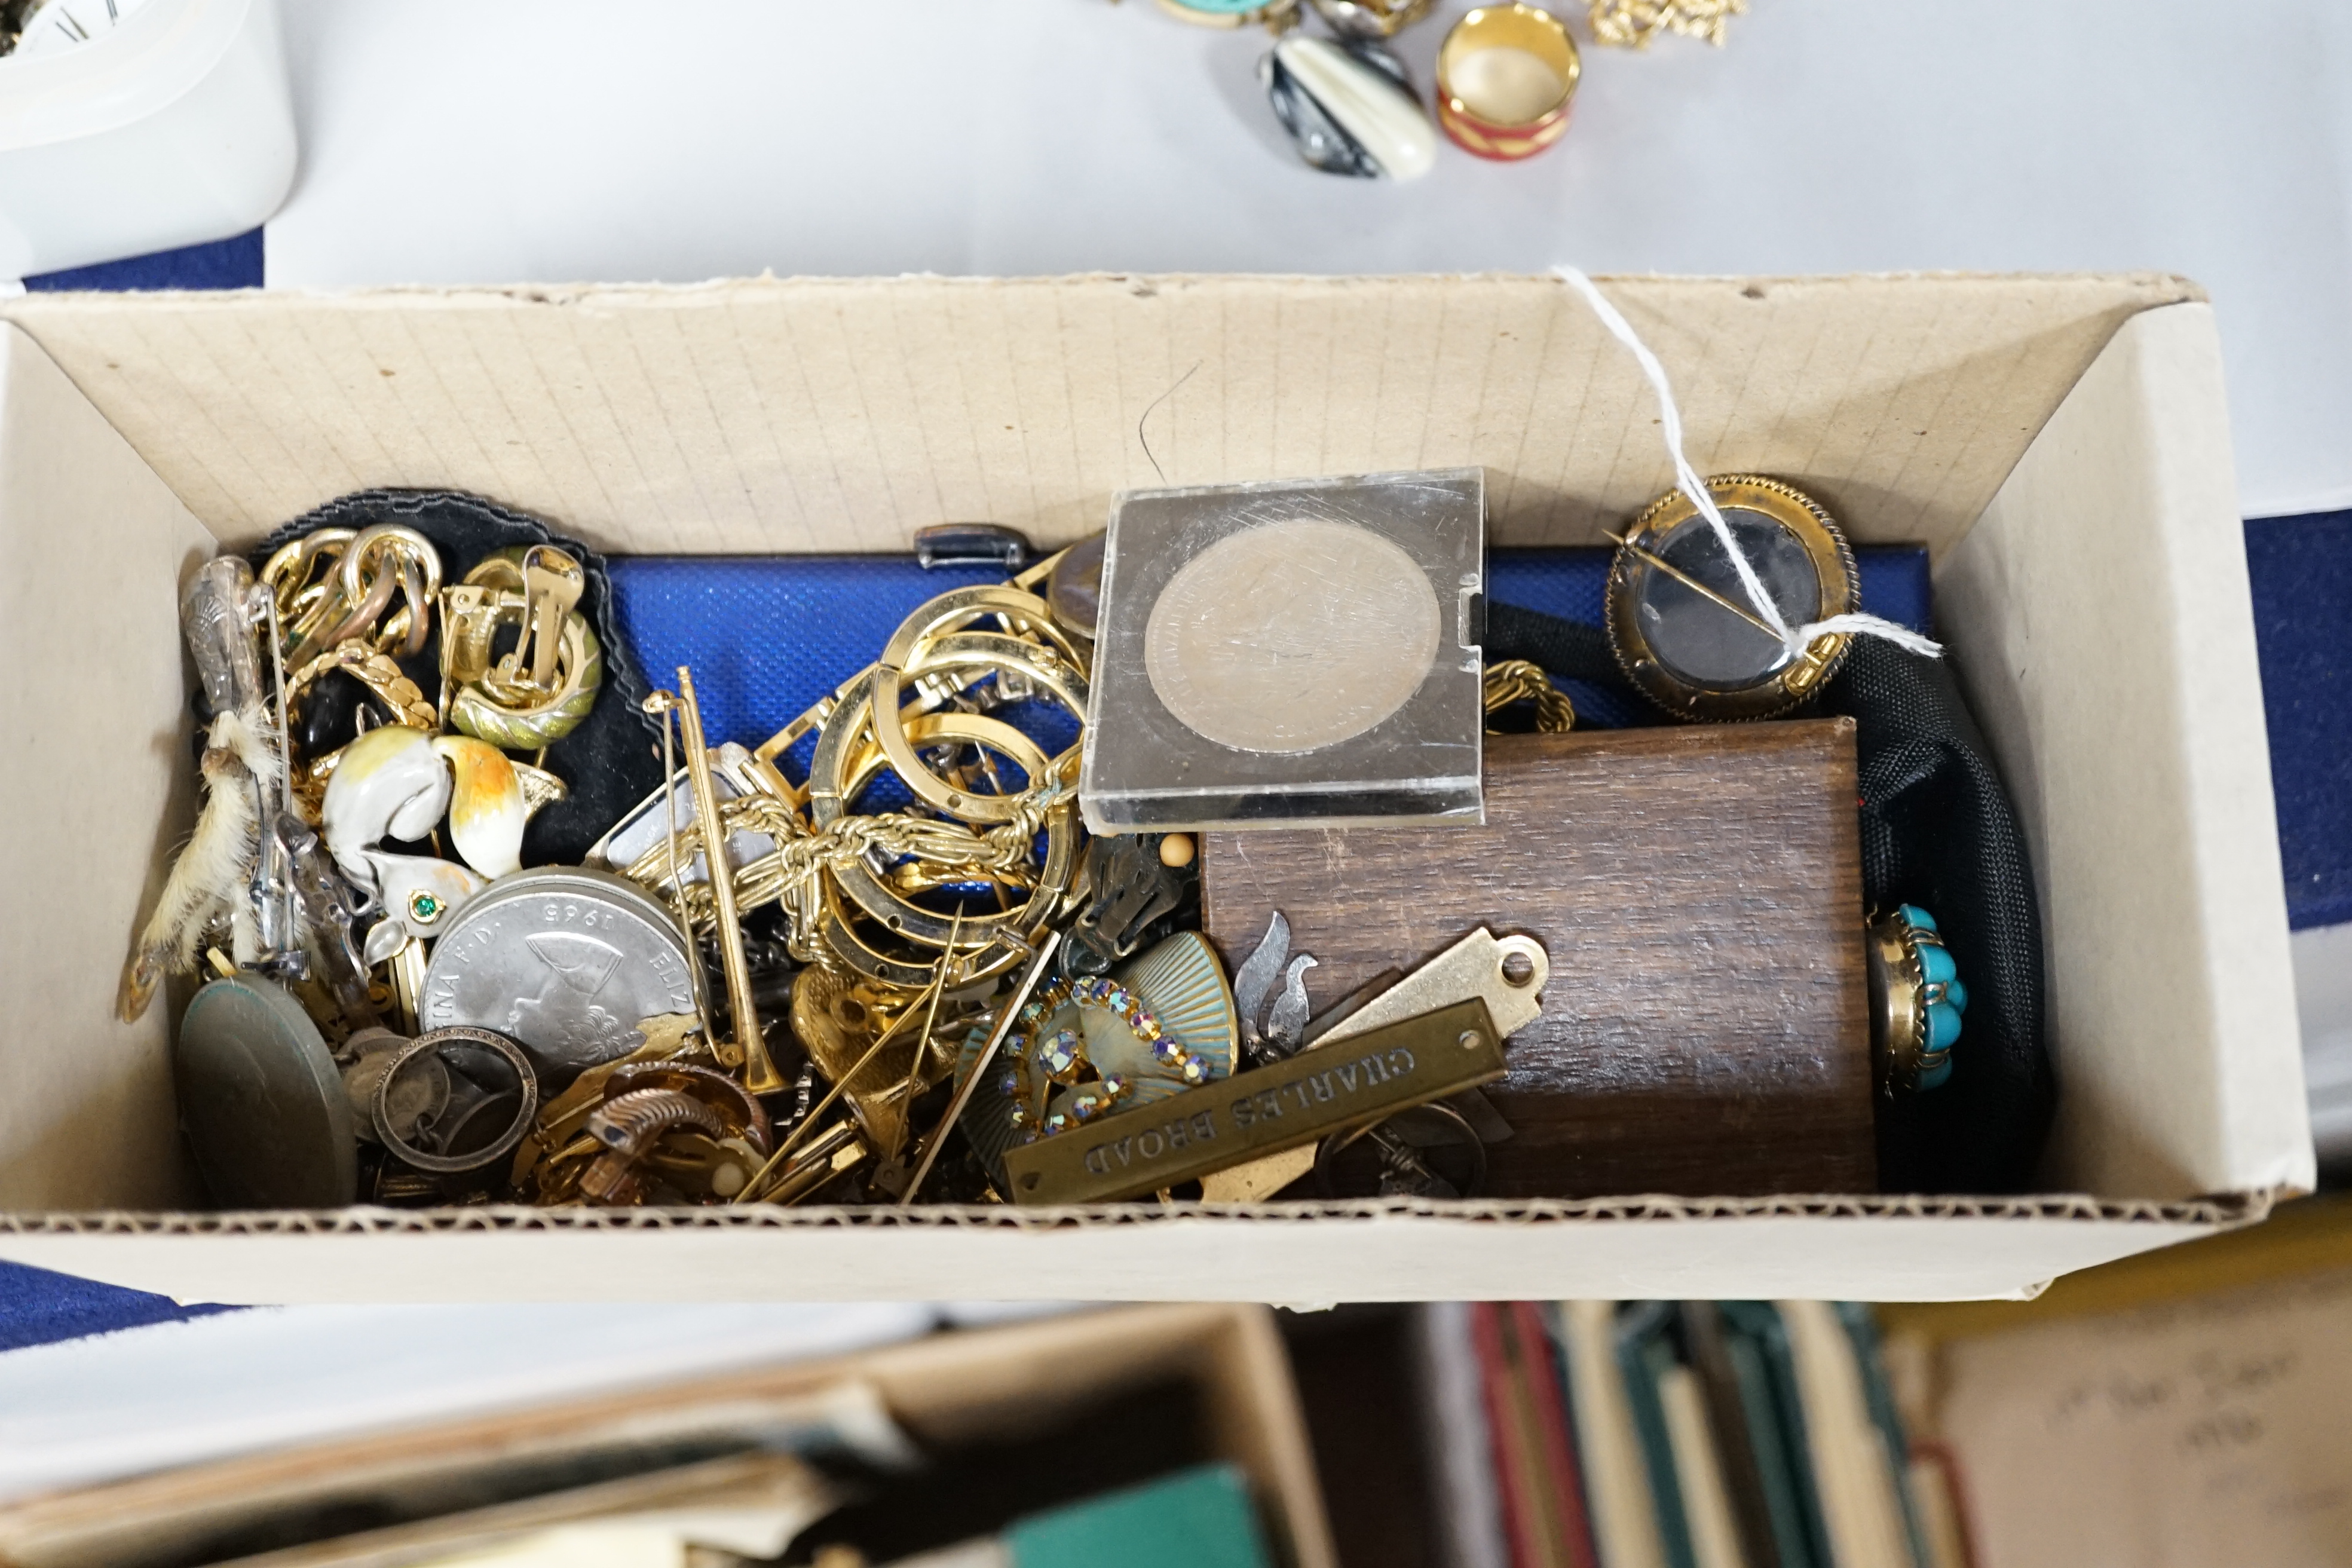
<svg viewBox="0 0 2352 1568">
<path fill-rule="evenodd" d="M 1597 625 L 1515 604 L 1486 616 L 1486 658 L 1632 691 Z M 1851 715 L 1863 900 L 1936 917 L 1969 985 L 1952 1077 L 1879 1100 L 1886 1192 L 2025 1192 L 2056 1105 L 2044 1039 L 2042 905 L 2016 809 L 1950 658 L 1856 637 L 1809 715 Z M 1668 722 L 1665 715 L 1658 715 Z M 1856 929 L 1856 943 L 1863 940 Z"/>
</svg>

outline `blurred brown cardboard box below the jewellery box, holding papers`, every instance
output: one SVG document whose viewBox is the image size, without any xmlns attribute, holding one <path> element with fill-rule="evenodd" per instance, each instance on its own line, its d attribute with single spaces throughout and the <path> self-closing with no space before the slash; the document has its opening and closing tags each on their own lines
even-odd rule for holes
<svg viewBox="0 0 2352 1568">
<path fill-rule="evenodd" d="M 1190 1462 L 1242 1467 L 1284 1568 L 1336 1568 L 1305 1413 L 1272 1312 L 1221 1305 L 1120 1307 L 934 1333 L 851 1356 L 369 1432 L 28 1497 L 0 1507 L 0 1561 L 12 1568 L 186 1561 L 191 1544 L 230 1537 L 273 1514 L 308 1512 L 365 1530 L 381 1519 L 376 1497 L 428 1493 L 442 1476 L 548 1467 L 555 1453 L 654 1448 L 715 1429 L 757 1432 L 811 1399 L 849 1406 L 851 1420 L 880 1406 L 917 1448 L 946 1455 L 1049 1436 L 1112 1399 L 1169 1389 L 1188 1392 L 1197 1410 L 1207 1450 Z"/>
</svg>

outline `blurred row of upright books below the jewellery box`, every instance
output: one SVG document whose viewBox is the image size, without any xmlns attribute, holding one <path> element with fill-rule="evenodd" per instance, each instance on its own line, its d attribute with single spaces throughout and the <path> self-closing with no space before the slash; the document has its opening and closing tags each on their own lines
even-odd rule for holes
<svg viewBox="0 0 2352 1568">
<path fill-rule="evenodd" d="M 1423 1309 L 1454 1568 L 1966 1568 L 1851 1302 Z"/>
</svg>

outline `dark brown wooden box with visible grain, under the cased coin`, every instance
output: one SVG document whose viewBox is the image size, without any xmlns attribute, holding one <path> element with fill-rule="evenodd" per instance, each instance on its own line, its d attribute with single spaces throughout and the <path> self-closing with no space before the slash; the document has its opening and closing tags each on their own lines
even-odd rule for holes
<svg viewBox="0 0 2352 1568">
<path fill-rule="evenodd" d="M 1489 1197 L 1875 1192 L 1853 802 L 1853 719 L 1489 736 L 1484 827 L 1209 835 L 1202 926 L 1240 966 L 1279 907 L 1317 1013 L 1538 938 Z"/>
</svg>

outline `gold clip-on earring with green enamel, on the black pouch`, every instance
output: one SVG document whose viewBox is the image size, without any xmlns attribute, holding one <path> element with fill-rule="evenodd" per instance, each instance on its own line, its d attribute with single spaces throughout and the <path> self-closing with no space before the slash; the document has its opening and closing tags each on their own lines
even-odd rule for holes
<svg viewBox="0 0 2352 1568">
<path fill-rule="evenodd" d="M 586 569 L 555 545 L 485 557 L 442 592 L 442 698 L 449 724 L 510 752 L 562 741 L 595 708 L 604 649 L 574 609 Z M 506 656 L 499 632 L 515 628 Z"/>
</svg>

